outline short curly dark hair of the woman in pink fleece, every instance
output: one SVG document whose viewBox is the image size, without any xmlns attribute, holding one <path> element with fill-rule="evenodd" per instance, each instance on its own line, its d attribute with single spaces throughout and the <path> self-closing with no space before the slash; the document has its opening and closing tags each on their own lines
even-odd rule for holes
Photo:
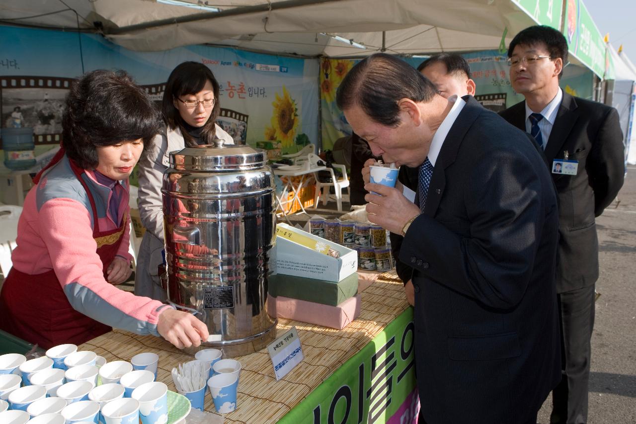
<svg viewBox="0 0 636 424">
<path fill-rule="evenodd" d="M 81 76 L 66 95 L 62 146 L 78 166 L 95 169 L 98 146 L 141 138 L 145 150 L 159 127 L 152 100 L 127 73 L 100 69 Z"/>
</svg>

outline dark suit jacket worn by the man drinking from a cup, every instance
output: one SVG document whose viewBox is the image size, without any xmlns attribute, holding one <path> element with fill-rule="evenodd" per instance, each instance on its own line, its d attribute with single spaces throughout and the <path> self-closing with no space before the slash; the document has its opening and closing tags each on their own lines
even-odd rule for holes
<svg viewBox="0 0 636 424">
<path fill-rule="evenodd" d="M 525 422 L 560 379 L 556 195 L 527 134 L 464 98 L 399 248 L 418 390 L 430 423 Z"/>
</svg>

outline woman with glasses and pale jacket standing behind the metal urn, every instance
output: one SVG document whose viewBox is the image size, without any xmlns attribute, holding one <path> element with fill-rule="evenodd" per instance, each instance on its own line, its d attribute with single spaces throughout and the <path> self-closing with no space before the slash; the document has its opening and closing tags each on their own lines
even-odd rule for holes
<svg viewBox="0 0 636 424">
<path fill-rule="evenodd" d="M 215 138 L 233 144 L 232 136 L 216 124 L 219 83 L 212 71 L 197 62 L 179 64 L 163 92 L 165 127 L 153 139 L 148 155 L 139 161 L 139 215 L 146 227 L 135 272 L 135 294 L 166 300 L 158 275 L 164 262 L 162 178 L 170 152 L 184 147 L 211 145 Z"/>
</svg>

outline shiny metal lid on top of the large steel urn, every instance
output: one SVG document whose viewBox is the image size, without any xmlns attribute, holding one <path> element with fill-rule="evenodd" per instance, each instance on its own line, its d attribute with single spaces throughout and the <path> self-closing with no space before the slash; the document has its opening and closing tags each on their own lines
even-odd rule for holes
<svg viewBox="0 0 636 424">
<path fill-rule="evenodd" d="M 233 171 L 254 169 L 267 164 L 267 152 L 250 146 L 224 145 L 214 139 L 214 145 L 186 147 L 170 152 L 170 167 L 188 171 Z"/>
</svg>

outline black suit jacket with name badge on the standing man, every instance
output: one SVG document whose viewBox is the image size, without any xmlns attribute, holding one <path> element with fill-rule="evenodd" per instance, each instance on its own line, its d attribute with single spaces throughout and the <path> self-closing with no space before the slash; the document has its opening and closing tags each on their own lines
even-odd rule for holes
<svg viewBox="0 0 636 424">
<path fill-rule="evenodd" d="M 525 101 L 501 113 L 525 131 Z M 576 176 L 551 174 L 559 200 L 559 259 L 556 290 L 569 292 L 598 279 L 595 216 L 611 204 L 623 186 L 625 147 L 616 109 L 563 92 L 563 101 L 548 139 L 548 169 L 553 160 L 579 161 Z"/>
</svg>

